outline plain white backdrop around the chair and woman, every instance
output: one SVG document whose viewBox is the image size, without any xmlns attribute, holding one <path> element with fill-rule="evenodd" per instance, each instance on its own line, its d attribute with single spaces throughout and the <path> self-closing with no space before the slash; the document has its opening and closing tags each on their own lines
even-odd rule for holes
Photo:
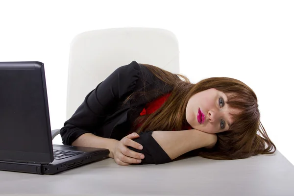
<svg viewBox="0 0 294 196">
<path fill-rule="evenodd" d="M 45 63 L 51 128 L 66 121 L 69 47 L 88 30 L 155 27 L 178 38 L 192 82 L 240 79 L 257 94 L 263 123 L 294 164 L 294 1 L 0 0 L 0 61 Z M 61 144 L 60 136 L 53 140 Z"/>
</svg>

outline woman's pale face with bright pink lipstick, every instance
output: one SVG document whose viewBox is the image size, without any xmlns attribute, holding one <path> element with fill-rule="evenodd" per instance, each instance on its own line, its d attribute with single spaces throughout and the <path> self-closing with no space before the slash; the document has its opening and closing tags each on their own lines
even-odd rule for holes
<svg viewBox="0 0 294 196">
<path fill-rule="evenodd" d="M 207 133 L 229 129 L 232 115 L 240 110 L 228 107 L 227 96 L 214 88 L 193 95 L 186 107 L 186 120 L 194 128 Z"/>
</svg>

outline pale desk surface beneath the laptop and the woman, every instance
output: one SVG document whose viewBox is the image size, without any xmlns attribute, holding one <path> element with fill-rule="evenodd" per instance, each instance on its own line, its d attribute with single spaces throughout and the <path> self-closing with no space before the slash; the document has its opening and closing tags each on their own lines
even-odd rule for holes
<svg viewBox="0 0 294 196">
<path fill-rule="evenodd" d="M 294 166 L 279 151 L 161 165 L 119 166 L 109 158 L 56 175 L 0 171 L 0 194 L 294 196 Z"/>
</svg>

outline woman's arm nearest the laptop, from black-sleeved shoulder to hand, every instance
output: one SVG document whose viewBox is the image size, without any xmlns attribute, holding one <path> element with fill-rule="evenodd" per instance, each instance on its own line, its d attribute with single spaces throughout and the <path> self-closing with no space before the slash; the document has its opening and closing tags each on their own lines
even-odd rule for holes
<svg viewBox="0 0 294 196">
<path fill-rule="evenodd" d="M 121 66 L 85 97 L 73 116 L 60 129 L 64 145 L 101 147 L 110 150 L 110 157 L 119 164 L 137 163 L 141 161 L 141 153 L 129 150 L 126 146 L 138 148 L 139 144 L 124 138 L 123 141 L 109 139 L 112 129 L 99 132 L 105 119 L 116 112 L 120 102 L 134 92 L 137 81 L 141 77 L 141 67 L 136 61 Z M 122 130 L 127 131 L 127 130 Z M 97 136 L 96 136 L 97 135 Z M 101 137 L 98 137 L 101 136 Z M 135 138 L 139 136 L 134 136 Z M 142 149 L 142 148 L 138 148 Z M 144 157 L 144 156 L 143 156 Z"/>
</svg>

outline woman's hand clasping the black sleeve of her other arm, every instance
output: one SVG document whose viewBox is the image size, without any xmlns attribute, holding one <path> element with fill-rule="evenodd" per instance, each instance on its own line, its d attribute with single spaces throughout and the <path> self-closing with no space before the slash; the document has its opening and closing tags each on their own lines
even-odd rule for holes
<svg viewBox="0 0 294 196">
<path fill-rule="evenodd" d="M 111 150 L 112 158 L 118 165 L 130 165 L 132 163 L 141 163 L 144 159 L 144 154 L 130 150 L 127 146 L 142 150 L 143 147 L 133 139 L 140 137 L 137 133 L 132 133 L 125 136 L 121 141 L 117 141 Z"/>
</svg>

